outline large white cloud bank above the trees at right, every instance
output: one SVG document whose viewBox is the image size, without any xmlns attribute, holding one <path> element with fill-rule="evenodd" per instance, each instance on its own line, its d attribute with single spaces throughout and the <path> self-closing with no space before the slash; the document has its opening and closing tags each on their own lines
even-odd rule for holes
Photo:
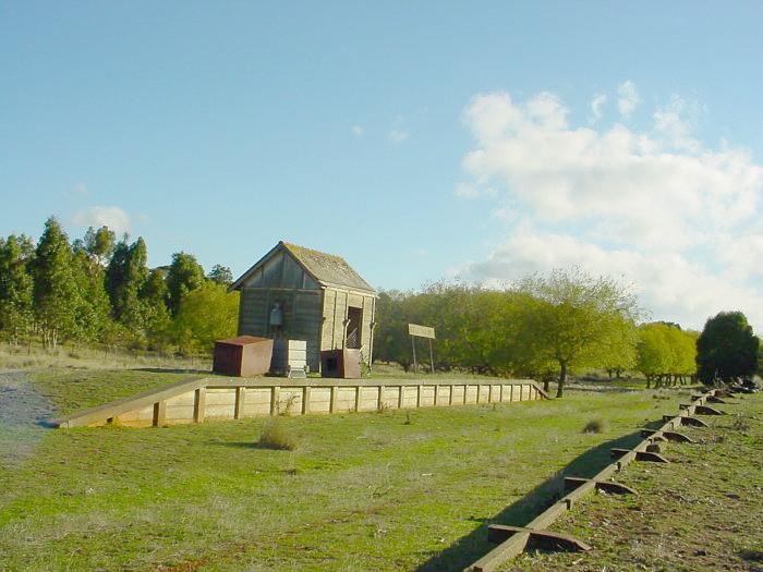
<svg viewBox="0 0 763 572">
<path fill-rule="evenodd" d="M 572 126 L 550 94 L 474 97 L 463 158 L 473 182 L 462 184 L 499 188 L 486 216 L 525 222 L 467 273 L 506 280 L 580 264 L 641 284 L 659 318 L 701 326 L 739 307 L 763 328 L 763 290 L 750 281 L 762 273 L 763 168 L 693 138 L 692 106 L 674 97 L 637 132 Z"/>
</svg>

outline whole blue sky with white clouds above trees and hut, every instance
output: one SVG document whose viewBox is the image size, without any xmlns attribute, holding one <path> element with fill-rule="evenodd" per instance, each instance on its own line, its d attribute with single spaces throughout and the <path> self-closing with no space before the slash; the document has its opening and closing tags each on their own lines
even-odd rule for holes
<svg viewBox="0 0 763 572">
<path fill-rule="evenodd" d="M 763 329 L 763 3 L 0 0 L 0 235 L 279 240 L 372 284 L 579 266 Z"/>
</svg>

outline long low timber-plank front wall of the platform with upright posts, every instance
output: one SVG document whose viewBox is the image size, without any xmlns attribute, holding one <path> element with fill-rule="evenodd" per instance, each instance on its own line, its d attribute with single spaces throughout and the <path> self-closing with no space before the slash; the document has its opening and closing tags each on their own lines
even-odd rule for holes
<svg viewBox="0 0 763 572">
<path fill-rule="evenodd" d="M 282 382 L 283 385 L 276 385 Z M 546 399 L 534 381 L 519 380 L 326 380 L 208 377 L 181 381 L 62 417 L 58 427 L 148 427 L 238 419 Z"/>
</svg>

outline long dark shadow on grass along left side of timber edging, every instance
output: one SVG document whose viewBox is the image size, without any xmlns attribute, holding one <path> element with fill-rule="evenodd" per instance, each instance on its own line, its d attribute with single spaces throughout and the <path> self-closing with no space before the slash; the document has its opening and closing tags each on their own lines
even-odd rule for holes
<svg viewBox="0 0 763 572">
<path fill-rule="evenodd" d="M 650 425 L 659 426 L 661 424 L 659 422 L 655 422 Z M 578 476 L 590 478 L 611 463 L 609 449 L 631 448 L 641 440 L 642 437 L 640 433 L 637 431 L 603 442 L 576 458 L 571 463 L 554 475 L 554 477 L 545 480 L 498 514 L 488 518 L 472 516 L 469 519 L 470 521 L 482 523 L 482 525 L 467 536 L 459 538 L 450 547 L 429 558 L 429 560 L 416 568 L 416 572 L 463 570 L 495 548 L 496 545 L 487 541 L 487 526 L 489 524 L 507 524 L 512 526 L 526 525 L 558 500 L 559 492 L 562 488 L 562 477 Z"/>
</svg>

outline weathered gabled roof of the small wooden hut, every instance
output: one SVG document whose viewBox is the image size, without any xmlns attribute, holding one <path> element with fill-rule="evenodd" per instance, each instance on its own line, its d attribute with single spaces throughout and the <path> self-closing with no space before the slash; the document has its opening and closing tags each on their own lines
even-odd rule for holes
<svg viewBox="0 0 763 572">
<path fill-rule="evenodd" d="M 230 290 L 238 290 L 243 282 L 252 276 L 261 266 L 265 264 L 278 251 L 284 251 L 291 255 L 296 263 L 305 269 L 305 271 L 323 287 L 346 288 L 348 290 L 361 290 L 375 294 L 376 291 L 361 278 L 361 276 L 347 264 L 347 260 L 341 256 L 322 253 L 296 244 L 290 244 L 280 241 L 274 248 L 263 256 L 257 263 L 246 270 L 230 287 Z"/>
</svg>

